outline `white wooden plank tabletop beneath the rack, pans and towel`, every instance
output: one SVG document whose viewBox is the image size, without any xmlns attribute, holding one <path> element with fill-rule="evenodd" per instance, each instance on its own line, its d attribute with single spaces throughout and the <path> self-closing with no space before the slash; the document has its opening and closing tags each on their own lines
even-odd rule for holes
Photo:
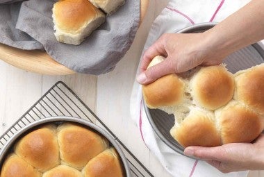
<svg viewBox="0 0 264 177">
<path fill-rule="evenodd" d="M 150 1 L 149 10 L 135 41 L 114 71 L 101 76 L 73 74 L 44 76 L 12 67 L 0 60 L 0 134 L 22 116 L 56 81 L 65 82 L 94 111 L 154 176 L 169 177 L 149 152 L 129 113 L 130 94 L 147 31 L 167 4 Z M 1 57 L 1 55 L 0 55 Z M 250 177 L 264 177 L 263 171 L 251 171 Z"/>
</svg>

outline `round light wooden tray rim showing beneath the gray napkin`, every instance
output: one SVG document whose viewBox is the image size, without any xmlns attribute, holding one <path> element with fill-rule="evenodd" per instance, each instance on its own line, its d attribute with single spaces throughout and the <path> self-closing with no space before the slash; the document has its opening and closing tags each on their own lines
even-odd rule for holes
<svg viewBox="0 0 264 177">
<path fill-rule="evenodd" d="M 140 23 L 145 16 L 149 0 L 140 0 Z M 24 51 L 0 44 L 0 59 L 10 65 L 38 74 L 67 75 L 74 71 L 53 60 L 45 51 Z"/>
</svg>

